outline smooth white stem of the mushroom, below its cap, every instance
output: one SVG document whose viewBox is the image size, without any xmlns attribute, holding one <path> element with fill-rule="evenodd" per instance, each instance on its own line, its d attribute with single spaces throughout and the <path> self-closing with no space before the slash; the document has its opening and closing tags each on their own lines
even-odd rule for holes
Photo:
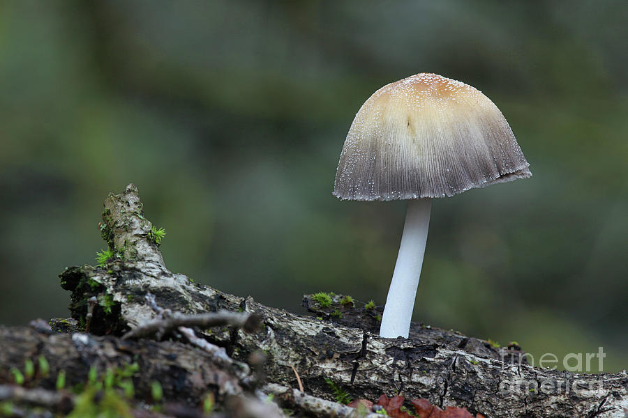
<svg viewBox="0 0 628 418">
<path fill-rule="evenodd" d="M 431 207 L 432 199 L 408 201 L 401 245 L 380 327 L 380 336 L 385 338 L 400 335 L 408 338 L 430 226 Z"/>
</svg>

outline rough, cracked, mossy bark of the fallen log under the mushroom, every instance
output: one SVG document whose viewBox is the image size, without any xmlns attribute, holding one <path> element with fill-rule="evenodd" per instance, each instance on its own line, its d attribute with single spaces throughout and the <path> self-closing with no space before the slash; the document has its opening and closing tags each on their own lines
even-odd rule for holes
<svg viewBox="0 0 628 418">
<path fill-rule="evenodd" d="M 586 375 L 537 369 L 519 364 L 518 350 L 504 356 L 486 341 L 418 323 L 412 324 L 409 339 L 382 339 L 377 336 L 382 308 L 355 308 L 341 296 L 334 297 L 330 307 L 321 307 L 306 296 L 304 304 L 315 314 L 297 316 L 251 297 L 195 284 L 165 267 L 134 185 L 107 197 L 103 222 L 103 238 L 114 257 L 104 266 L 84 265 L 60 274 L 61 286 L 72 292 L 70 312 L 78 325 L 56 320 L 54 329 L 59 333 L 52 334 L 45 327 L 0 328 L 0 384 L 13 381 L 11 367 L 20 368 L 26 359 L 34 361 L 44 355 L 51 370 L 48 377 L 33 380 L 37 387 L 53 389 L 61 369 L 71 386 L 85 382 L 90 366 L 104 372 L 137 362 L 136 399 L 149 398 L 151 382 L 158 380 L 170 402 L 195 406 L 211 392 L 218 405 L 231 405 L 222 413 L 237 417 L 281 417 L 278 409 L 262 415 L 250 412 L 261 404 L 246 400 L 269 393 L 277 394 L 296 416 L 348 416 L 341 405 L 332 412 L 321 412 L 329 410 L 324 407 L 327 403 L 319 405 L 322 410 L 311 406 L 315 398 L 321 403 L 334 401 L 329 380 L 352 398 L 376 401 L 381 394 L 401 393 L 408 400 L 426 398 L 441 407 L 466 407 L 485 417 L 623 417 L 628 408 L 626 373 Z M 155 318 L 144 300 L 147 293 L 173 312 L 241 311 L 260 316 L 262 326 L 253 333 L 234 327 L 196 330 L 210 343 L 224 347 L 235 360 L 232 364 L 217 362 L 211 353 L 181 341 L 177 332 L 167 334 L 174 341 L 119 338 Z M 98 304 L 87 324 L 92 296 Z M 90 334 L 64 334 L 61 325 L 63 332 L 89 325 Z M 267 357 L 260 366 L 263 373 L 245 364 L 257 352 Z M 502 362 L 509 355 L 515 361 Z M 298 387 L 292 367 L 303 381 L 307 398 L 295 400 L 292 394 Z M 230 396 L 239 397 L 229 403 Z"/>
</svg>

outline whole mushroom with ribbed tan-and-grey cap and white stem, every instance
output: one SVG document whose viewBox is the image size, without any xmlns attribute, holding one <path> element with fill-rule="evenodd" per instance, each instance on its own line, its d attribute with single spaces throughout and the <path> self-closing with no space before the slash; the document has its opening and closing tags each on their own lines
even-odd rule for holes
<svg viewBox="0 0 628 418">
<path fill-rule="evenodd" d="M 334 196 L 408 200 L 380 336 L 408 338 L 431 199 L 528 178 L 529 166 L 500 109 L 463 82 L 421 72 L 362 104 L 338 162 Z"/>
</svg>

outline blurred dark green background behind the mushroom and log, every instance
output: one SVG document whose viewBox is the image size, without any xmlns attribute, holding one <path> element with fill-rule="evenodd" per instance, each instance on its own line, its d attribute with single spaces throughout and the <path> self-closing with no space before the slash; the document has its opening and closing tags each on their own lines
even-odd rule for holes
<svg viewBox="0 0 628 418">
<path fill-rule="evenodd" d="M 373 91 L 479 88 L 534 177 L 433 203 L 414 319 L 628 364 L 628 2 L 13 1 L 0 6 L 0 323 L 66 316 L 108 192 L 167 266 L 301 312 L 386 300 L 405 203 L 331 196 Z M 594 362 L 595 365 L 595 362 Z M 597 371 L 596 368 L 593 371 Z"/>
</svg>

